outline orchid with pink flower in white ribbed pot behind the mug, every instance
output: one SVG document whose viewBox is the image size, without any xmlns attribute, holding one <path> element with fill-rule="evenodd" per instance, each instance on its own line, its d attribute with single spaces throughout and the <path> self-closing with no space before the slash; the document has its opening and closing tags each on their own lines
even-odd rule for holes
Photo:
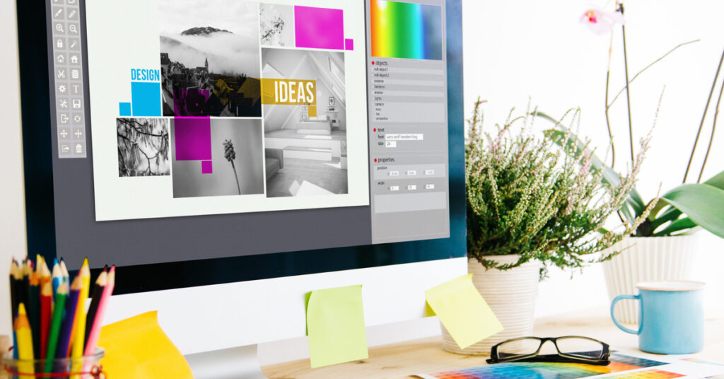
<svg viewBox="0 0 724 379">
<path fill-rule="evenodd" d="M 626 27 L 623 20 L 623 4 L 621 1 L 615 1 L 615 10 L 607 12 L 600 9 L 591 9 L 584 13 L 581 22 L 588 25 L 599 34 L 612 33 L 615 24 L 620 24 L 623 34 L 623 62 L 626 75 L 626 85 L 621 88 L 618 93 L 613 96 L 613 100 L 609 100 L 609 72 L 606 73 L 606 93 L 605 93 L 605 120 L 610 142 L 610 166 L 607 166 L 600 159 L 593 159 L 595 169 L 604 173 L 602 180 L 606 183 L 614 183 L 618 180 L 618 174 L 613 170 L 615 164 L 615 145 L 613 143 L 613 132 L 609 110 L 613 106 L 619 96 L 625 94 L 626 106 L 628 107 L 628 145 L 630 146 L 631 162 L 635 164 L 633 140 L 633 130 L 631 127 L 631 101 L 628 99 L 629 85 L 633 80 L 639 77 L 641 73 L 646 71 L 653 64 L 660 62 L 662 59 L 671 54 L 676 49 L 686 46 L 696 41 L 689 41 L 675 46 L 673 49 L 663 54 L 662 57 L 648 64 L 642 70 L 637 72 L 633 77 L 628 77 L 628 63 L 626 59 Z M 611 46 L 613 47 L 613 45 Z M 613 49 L 609 49 L 609 70 Z M 622 220 L 633 222 L 643 217 L 636 230 L 629 236 L 623 238 L 614 246 L 605 251 L 607 261 L 604 262 L 603 268 L 606 278 L 606 284 L 610 299 L 624 293 L 636 293 L 636 283 L 652 281 L 652 280 L 684 280 L 691 279 L 693 268 L 696 262 L 696 253 L 699 250 L 699 235 L 694 233 L 699 229 L 706 229 L 711 233 L 724 238 L 724 171 L 719 172 L 709 180 L 702 182 L 704 167 L 707 164 L 712 149 L 712 141 L 717 126 L 717 117 L 719 114 L 720 104 L 724 93 L 724 83 L 719 88 L 719 95 L 715 105 L 712 132 L 707 146 L 706 154 L 702 162 L 701 170 L 699 170 L 696 183 L 688 183 L 691 170 L 691 163 L 694 159 L 696 146 L 699 142 L 699 136 L 702 132 L 704 120 L 706 120 L 707 112 L 710 105 L 713 105 L 712 96 L 717 89 L 717 78 L 724 63 L 724 51 L 719 60 L 716 74 L 712 87 L 704 107 L 704 115 L 699 128 L 696 131 L 696 139 L 691 149 L 689 163 L 686 166 L 686 172 L 683 174 L 681 186 L 663 192 L 662 196 L 656 197 L 650 201 L 644 201 L 644 198 L 631 188 L 628 192 L 626 201 L 622 207 L 618 209 L 618 215 Z M 580 154 L 585 149 L 586 144 L 576 140 L 575 136 L 569 139 L 571 131 L 563 125 L 562 120 L 554 120 L 550 116 L 543 113 L 536 114 L 555 123 L 555 130 L 549 130 L 554 136 L 559 146 L 577 145 L 576 149 L 563 149 L 567 153 Z M 575 118 L 575 116 L 573 116 Z M 568 143 L 565 143 L 568 141 Z M 645 212 L 648 212 L 645 215 Z M 620 253 L 620 255 L 618 255 Z M 637 323 L 639 312 L 636 304 L 624 301 L 616 308 L 616 317 L 622 322 Z"/>
</svg>

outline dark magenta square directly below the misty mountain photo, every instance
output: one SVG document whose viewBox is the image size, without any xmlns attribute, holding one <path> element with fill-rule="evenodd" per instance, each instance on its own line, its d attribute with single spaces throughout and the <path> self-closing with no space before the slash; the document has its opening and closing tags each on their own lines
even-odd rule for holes
<svg viewBox="0 0 724 379">
<path fill-rule="evenodd" d="M 177 161 L 211 159 L 211 118 L 174 117 Z"/>
</svg>

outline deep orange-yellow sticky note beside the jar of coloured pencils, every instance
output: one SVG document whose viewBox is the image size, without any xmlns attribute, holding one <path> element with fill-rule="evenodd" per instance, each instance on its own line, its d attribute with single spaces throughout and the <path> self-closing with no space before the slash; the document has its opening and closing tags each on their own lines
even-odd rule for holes
<svg viewBox="0 0 724 379">
<path fill-rule="evenodd" d="M 98 346 L 106 349 L 101 364 L 108 378 L 193 379 L 186 359 L 161 330 L 156 312 L 104 326 Z"/>
</svg>

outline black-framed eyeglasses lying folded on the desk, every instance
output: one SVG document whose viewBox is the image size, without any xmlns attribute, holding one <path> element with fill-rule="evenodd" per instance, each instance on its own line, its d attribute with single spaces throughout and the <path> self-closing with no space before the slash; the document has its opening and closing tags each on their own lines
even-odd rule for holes
<svg viewBox="0 0 724 379">
<path fill-rule="evenodd" d="M 551 341 L 555 353 L 541 354 Z M 488 363 L 502 362 L 571 362 L 605 366 L 610 363 L 608 344 L 593 338 L 565 336 L 557 338 L 521 337 L 503 341 L 490 349 Z"/>
</svg>

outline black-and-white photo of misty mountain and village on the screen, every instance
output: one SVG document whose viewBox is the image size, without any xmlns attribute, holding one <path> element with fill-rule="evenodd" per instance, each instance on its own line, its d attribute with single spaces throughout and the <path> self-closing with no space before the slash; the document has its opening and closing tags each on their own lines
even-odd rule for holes
<svg viewBox="0 0 724 379">
<path fill-rule="evenodd" d="M 164 116 L 261 117 L 258 4 L 159 0 Z"/>
</svg>

